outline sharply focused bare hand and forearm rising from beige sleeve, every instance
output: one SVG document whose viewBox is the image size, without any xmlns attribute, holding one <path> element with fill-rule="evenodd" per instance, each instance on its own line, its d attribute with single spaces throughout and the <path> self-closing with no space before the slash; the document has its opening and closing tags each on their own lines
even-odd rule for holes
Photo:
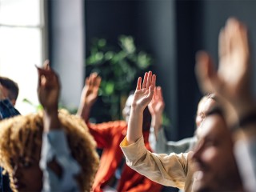
<svg viewBox="0 0 256 192">
<path fill-rule="evenodd" d="M 153 98 L 155 82 L 156 76 L 151 71 L 145 73 L 143 82 L 141 77 L 138 78 L 128 122 L 129 144 L 136 142 L 142 136 L 143 111 Z"/>
</svg>

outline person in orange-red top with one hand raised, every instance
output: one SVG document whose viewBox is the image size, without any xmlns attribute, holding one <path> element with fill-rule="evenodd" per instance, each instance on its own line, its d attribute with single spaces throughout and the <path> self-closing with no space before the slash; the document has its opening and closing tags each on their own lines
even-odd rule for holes
<svg viewBox="0 0 256 192">
<path fill-rule="evenodd" d="M 119 147 L 119 143 L 126 135 L 133 94 L 130 94 L 127 98 L 126 106 L 122 111 L 126 121 L 99 124 L 89 122 L 90 107 L 98 97 L 100 81 L 101 78 L 97 74 L 90 74 L 90 77 L 86 78 L 86 85 L 82 91 L 81 104 L 78 109 L 78 115 L 84 118 L 90 133 L 97 142 L 98 148 L 102 149 L 100 166 L 94 179 L 93 191 L 161 191 L 162 185 L 152 182 L 149 178 L 126 166 L 125 158 Z M 143 114 L 143 135 L 146 149 L 150 150 L 148 142 L 151 120 L 150 111 L 146 108 Z"/>
</svg>

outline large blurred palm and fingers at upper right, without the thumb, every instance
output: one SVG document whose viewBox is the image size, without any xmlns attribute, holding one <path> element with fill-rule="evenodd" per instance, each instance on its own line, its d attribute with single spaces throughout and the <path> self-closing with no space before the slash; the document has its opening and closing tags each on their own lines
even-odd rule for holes
<svg viewBox="0 0 256 192">
<path fill-rule="evenodd" d="M 249 77 L 249 45 L 246 30 L 241 24 L 232 21 L 228 23 L 225 33 L 222 32 L 219 40 L 220 63 L 218 78 L 222 84 L 224 94 L 229 93 L 230 98 L 236 97 L 239 93 L 244 93 L 247 78 Z"/>
</svg>

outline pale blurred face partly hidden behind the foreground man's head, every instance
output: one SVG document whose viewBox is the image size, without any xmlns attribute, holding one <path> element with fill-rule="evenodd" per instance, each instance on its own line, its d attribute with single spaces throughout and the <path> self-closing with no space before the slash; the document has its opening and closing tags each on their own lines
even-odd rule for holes
<svg viewBox="0 0 256 192">
<path fill-rule="evenodd" d="M 202 98 L 198 103 L 197 117 L 195 118 L 196 126 L 199 127 L 206 117 L 206 114 L 216 105 L 216 101 L 213 98 Z"/>
</svg>

